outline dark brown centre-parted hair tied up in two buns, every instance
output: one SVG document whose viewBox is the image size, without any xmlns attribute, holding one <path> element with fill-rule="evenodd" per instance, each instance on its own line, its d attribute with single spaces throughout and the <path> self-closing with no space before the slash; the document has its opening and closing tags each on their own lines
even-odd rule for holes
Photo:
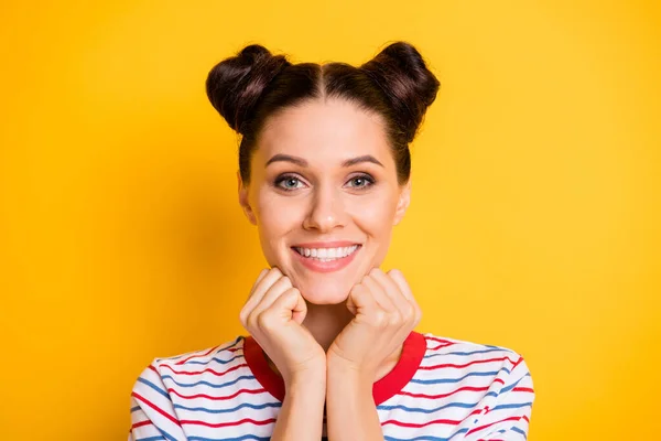
<svg viewBox="0 0 661 441">
<path fill-rule="evenodd" d="M 251 44 L 216 64 L 206 79 L 206 93 L 229 127 L 242 136 L 239 170 L 250 181 L 250 160 L 269 116 L 321 97 L 336 97 L 380 115 L 397 164 L 398 181 L 411 174 L 409 143 L 440 83 L 424 60 L 407 42 L 388 45 L 359 67 L 346 63 L 290 63 L 264 46 Z"/>
</svg>

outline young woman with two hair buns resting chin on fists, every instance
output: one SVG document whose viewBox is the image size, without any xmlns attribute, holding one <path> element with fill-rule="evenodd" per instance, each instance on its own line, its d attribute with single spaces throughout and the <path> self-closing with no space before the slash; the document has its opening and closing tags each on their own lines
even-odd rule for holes
<svg viewBox="0 0 661 441">
<path fill-rule="evenodd" d="M 155 358 L 129 440 L 524 440 L 534 392 L 503 347 L 421 334 L 398 270 L 413 140 L 438 80 L 410 44 L 360 67 L 260 45 L 217 64 L 210 103 L 242 137 L 239 202 L 270 269 L 249 336 Z"/>
</svg>

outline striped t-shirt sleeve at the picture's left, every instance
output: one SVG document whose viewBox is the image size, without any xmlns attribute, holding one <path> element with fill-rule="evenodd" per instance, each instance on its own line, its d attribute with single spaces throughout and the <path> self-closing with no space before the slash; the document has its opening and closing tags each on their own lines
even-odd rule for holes
<svg viewBox="0 0 661 441">
<path fill-rule="evenodd" d="M 155 363 L 138 377 L 130 399 L 131 429 L 128 441 L 186 440 Z"/>
</svg>

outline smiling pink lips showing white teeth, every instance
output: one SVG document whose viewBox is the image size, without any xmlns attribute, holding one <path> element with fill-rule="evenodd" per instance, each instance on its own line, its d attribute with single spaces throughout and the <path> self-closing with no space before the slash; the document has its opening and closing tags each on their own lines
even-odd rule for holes
<svg viewBox="0 0 661 441">
<path fill-rule="evenodd" d="M 361 245 L 349 241 L 311 243 L 292 247 L 294 256 L 317 272 L 338 271 L 349 265 Z"/>
</svg>

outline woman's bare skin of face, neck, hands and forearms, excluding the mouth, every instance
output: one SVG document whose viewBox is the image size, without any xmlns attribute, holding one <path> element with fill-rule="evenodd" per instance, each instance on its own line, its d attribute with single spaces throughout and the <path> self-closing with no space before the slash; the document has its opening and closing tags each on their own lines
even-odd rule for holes
<svg viewBox="0 0 661 441">
<path fill-rule="evenodd" d="M 340 99 L 271 116 L 238 190 L 271 267 L 240 320 L 285 383 L 272 439 L 318 440 L 325 404 L 329 439 L 382 440 L 372 384 L 394 367 L 421 312 L 402 273 L 379 269 L 411 193 L 410 181 L 398 183 L 381 117 Z M 327 240 L 360 248 L 333 272 L 293 254 Z"/>
</svg>

